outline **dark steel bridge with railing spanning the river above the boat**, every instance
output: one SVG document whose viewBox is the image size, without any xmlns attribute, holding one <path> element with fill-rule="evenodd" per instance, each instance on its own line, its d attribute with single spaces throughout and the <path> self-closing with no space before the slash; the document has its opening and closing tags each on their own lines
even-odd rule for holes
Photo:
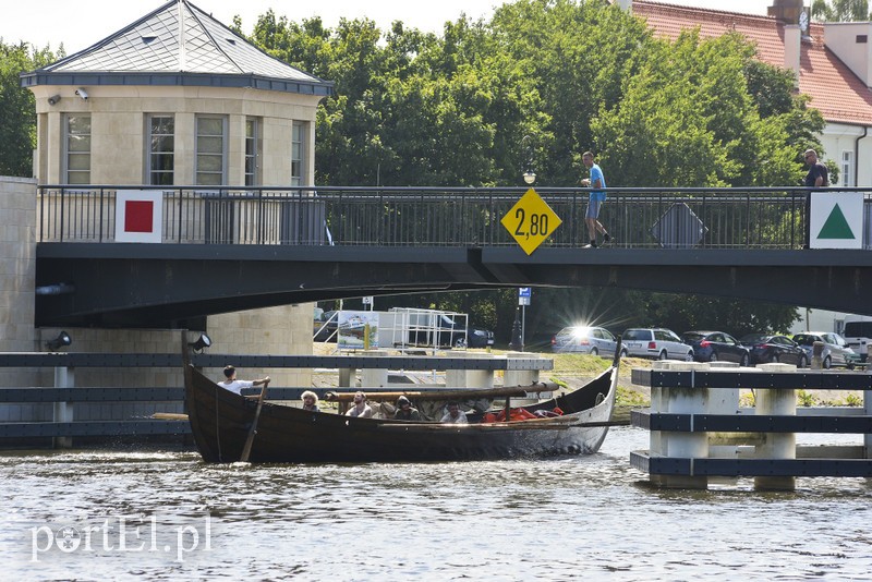
<svg viewBox="0 0 872 582">
<path fill-rule="evenodd" d="M 601 221 L 616 242 L 601 248 L 583 248 L 586 190 L 536 187 L 553 215 L 530 254 L 524 192 L 40 186 L 37 325 L 174 327 L 317 300 L 589 286 L 872 315 L 870 189 L 838 189 L 863 194 L 860 247 L 824 250 L 804 247 L 801 187 L 609 189 Z M 155 243 L 120 242 L 119 193 L 157 202 Z M 511 229 L 507 215 L 520 217 Z"/>
</svg>

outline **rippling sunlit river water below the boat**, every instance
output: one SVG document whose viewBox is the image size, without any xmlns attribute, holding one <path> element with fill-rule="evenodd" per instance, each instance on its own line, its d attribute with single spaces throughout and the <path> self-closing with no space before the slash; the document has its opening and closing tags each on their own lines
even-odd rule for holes
<svg viewBox="0 0 872 582">
<path fill-rule="evenodd" d="M 823 442 L 835 442 L 824 437 Z M 872 480 L 662 490 L 647 433 L 541 461 L 207 465 L 0 454 L 5 580 L 870 580 Z"/>
</svg>

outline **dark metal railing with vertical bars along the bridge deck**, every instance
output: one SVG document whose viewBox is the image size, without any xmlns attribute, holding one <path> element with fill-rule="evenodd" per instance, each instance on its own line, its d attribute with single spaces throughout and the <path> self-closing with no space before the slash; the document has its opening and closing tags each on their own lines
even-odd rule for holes
<svg viewBox="0 0 872 582">
<path fill-rule="evenodd" d="M 161 241 L 183 244 L 513 246 L 500 220 L 524 189 L 38 186 L 39 242 L 114 242 L 117 193 L 162 192 Z M 545 246 L 580 247 L 588 189 L 536 187 L 562 225 Z M 863 246 L 872 248 L 872 189 Z M 801 248 L 809 191 L 609 189 L 600 220 L 619 246 Z"/>
</svg>

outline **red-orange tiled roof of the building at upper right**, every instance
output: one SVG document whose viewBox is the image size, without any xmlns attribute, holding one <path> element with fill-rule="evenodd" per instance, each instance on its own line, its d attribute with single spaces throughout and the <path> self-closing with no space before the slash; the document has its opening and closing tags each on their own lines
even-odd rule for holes
<svg viewBox="0 0 872 582">
<path fill-rule="evenodd" d="M 756 45 L 761 61 L 785 66 L 784 24 L 772 16 L 647 1 L 634 1 L 632 10 L 657 36 L 669 39 L 688 28 L 699 27 L 702 37 L 736 31 Z M 799 90 L 831 123 L 872 125 L 872 90 L 824 46 L 822 24 L 811 23 L 809 35 L 800 52 Z"/>
</svg>

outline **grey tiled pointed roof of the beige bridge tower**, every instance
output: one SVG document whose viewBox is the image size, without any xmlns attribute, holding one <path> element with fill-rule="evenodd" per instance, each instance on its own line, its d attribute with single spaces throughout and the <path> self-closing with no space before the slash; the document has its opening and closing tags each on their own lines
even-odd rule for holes
<svg viewBox="0 0 872 582">
<path fill-rule="evenodd" d="M 187 0 L 171 0 L 75 54 L 22 74 L 33 85 L 191 85 L 330 95 Z"/>
</svg>

